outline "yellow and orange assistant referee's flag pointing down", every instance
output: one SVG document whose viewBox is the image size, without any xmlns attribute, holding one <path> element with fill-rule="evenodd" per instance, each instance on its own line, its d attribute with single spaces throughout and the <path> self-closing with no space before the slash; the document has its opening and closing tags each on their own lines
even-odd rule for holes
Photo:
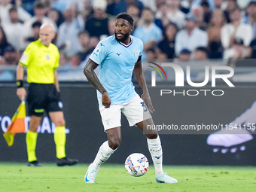
<svg viewBox="0 0 256 192">
<path fill-rule="evenodd" d="M 14 136 L 16 133 L 25 133 L 25 117 L 26 106 L 25 102 L 21 102 L 20 106 L 11 119 L 11 125 L 8 126 L 7 131 L 4 133 L 5 140 L 9 147 L 14 145 Z"/>
</svg>

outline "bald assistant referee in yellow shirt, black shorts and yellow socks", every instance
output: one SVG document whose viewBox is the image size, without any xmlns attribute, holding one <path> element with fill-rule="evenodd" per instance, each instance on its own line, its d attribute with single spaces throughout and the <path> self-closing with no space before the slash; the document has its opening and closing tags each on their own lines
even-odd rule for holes
<svg viewBox="0 0 256 192">
<path fill-rule="evenodd" d="M 38 41 L 33 41 L 26 47 L 17 66 L 17 96 L 25 100 L 26 90 L 23 87 L 24 67 L 27 68 L 29 91 L 29 131 L 26 133 L 28 166 L 40 166 L 35 156 L 38 126 L 44 111 L 56 125 L 54 142 L 56 144 L 57 166 L 75 165 L 78 160 L 66 158 L 66 124 L 59 100 L 59 81 L 56 69 L 59 66 L 59 50 L 51 43 L 55 37 L 53 24 L 44 23 L 40 27 Z"/>
</svg>

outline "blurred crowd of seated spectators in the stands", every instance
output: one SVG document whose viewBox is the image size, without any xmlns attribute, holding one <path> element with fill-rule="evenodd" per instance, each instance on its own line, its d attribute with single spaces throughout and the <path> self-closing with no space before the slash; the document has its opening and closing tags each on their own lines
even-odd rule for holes
<svg viewBox="0 0 256 192">
<path fill-rule="evenodd" d="M 143 59 L 256 58 L 254 0 L 0 0 L 0 66 L 17 65 L 47 22 L 57 29 L 59 65 L 84 67 L 96 44 L 114 35 L 121 12 L 133 16 Z"/>
</svg>

